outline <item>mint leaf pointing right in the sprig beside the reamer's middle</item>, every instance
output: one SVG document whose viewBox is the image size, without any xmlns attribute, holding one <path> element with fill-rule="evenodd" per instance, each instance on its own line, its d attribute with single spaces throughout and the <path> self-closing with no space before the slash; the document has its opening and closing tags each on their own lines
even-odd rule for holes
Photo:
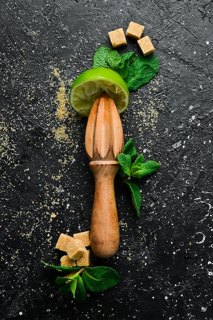
<svg viewBox="0 0 213 320">
<path fill-rule="evenodd" d="M 155 172 L 160 168 L 160 164 L 152 160 L 149 160 L 144 163 L 140 162 L 140 159 L 144 159 L 143 154 L 139 155 L 138 158 L 131 167 L 131 176 L 134 178 L 142 178 L 148 174 Z"/>
</svg>

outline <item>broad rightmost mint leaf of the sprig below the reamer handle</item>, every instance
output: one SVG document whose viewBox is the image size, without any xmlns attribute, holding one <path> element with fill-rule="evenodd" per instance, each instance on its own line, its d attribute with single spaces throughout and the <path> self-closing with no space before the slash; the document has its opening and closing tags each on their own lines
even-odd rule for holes
<svg viewBox="0 0 213 320">
<path fill-rule="evenodd" d="M 110 267 L 85 267 L 82 279 L 87 289 L 100 292 L 114 287 L 119 282 L 119 275 Z"/>
</svg>

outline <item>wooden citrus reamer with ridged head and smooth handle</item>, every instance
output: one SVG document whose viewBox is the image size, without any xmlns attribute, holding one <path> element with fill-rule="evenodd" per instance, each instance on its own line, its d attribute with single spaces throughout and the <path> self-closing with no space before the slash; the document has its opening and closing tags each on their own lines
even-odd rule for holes
<svg viewBox="0 0 213 320">
<path fill-rule="evenodd" d="M 86 153 L 95 181 L 90 245 L 92 252 L 101 258 L 113 256 L 119 247 L 114 177 L 119 170 L 116 157 L 122 152 L 123 146 L 119 112 L 114 100 L 102 93 L 91 108 L 85 133 Z"/>
</svg>

